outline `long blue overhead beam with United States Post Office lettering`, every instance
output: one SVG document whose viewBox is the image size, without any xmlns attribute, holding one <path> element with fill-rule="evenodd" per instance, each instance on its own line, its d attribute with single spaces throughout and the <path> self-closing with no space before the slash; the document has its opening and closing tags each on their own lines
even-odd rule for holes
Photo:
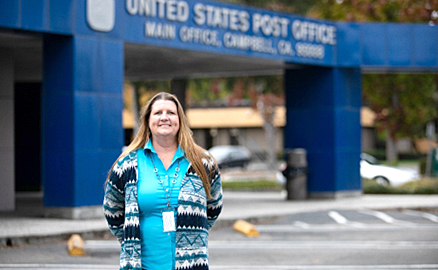
<svg viewBox="0 0 438 270">
<path fill-rule="evenodd" d="M 200 0 L 0 0 L 0 27 L 289 63 L 438 70 L 438 27 L 347 23 Z"/>
</svg>

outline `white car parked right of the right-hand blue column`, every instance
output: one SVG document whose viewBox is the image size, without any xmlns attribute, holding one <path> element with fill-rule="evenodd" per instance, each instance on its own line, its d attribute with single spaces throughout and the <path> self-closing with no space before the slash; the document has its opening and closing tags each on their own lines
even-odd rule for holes
<svg viewBox="0 0 438 270">
<path fill-rule="evenodd" d="M 420 174 L 415 170 L 381 165 L 376 158 L 365 153 L 360 155 L 360 176 L 391 186 L 400 186 L 420 179 Z"/>
</svg>

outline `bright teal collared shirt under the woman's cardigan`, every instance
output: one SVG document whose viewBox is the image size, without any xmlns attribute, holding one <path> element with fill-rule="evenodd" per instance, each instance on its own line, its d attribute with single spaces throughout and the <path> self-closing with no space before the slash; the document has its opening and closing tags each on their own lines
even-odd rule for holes
<svg viewBox="0 0 438 270">
<path fill-rule="evenodd" d="M 167 207 L 163 186 L 167 189 L 167 194 L 169 194 L 179 162 L 178 176 L 175 179 L 176 182 L 170 194 L 171 206 L 175 209 L 176 224 L 178 195 L 182 179 L 189 167 L 189 162 L 184 157 L 184 151 L 178 146 L 172 163 L 166 170 L 150 140 L 144 149 L 137 150 L 137 157 L 142 267 L 148 270 L 174 269 L 175 231 L 163 232 L 162 211 Z M 158 182 L 157 175 L 154 172 L 154 165 L 158 169 L 158 175 L 163 182 L 163 186 Z"/>
</svg>

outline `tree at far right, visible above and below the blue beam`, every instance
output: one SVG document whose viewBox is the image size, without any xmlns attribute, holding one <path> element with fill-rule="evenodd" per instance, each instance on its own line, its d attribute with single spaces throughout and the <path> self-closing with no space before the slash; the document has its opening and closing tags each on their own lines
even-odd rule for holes
<svg viewBox="0 0 438 270">
<path fill-rule="evenodd" d="M 308 15 L 343 21 L 437 23 L 438 0 L 324 0 Z M 365 74 L 363 100 L 377 113 L 377 130 L 386 137 L 386 159 L 397 162 L 396 141 L 424 136 L 436 117 L 434 74 Z"/>
</svg>

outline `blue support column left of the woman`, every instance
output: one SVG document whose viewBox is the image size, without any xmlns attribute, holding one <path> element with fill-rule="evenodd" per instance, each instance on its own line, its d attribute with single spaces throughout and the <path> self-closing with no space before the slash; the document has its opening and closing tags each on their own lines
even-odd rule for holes
<svg viewBox="0 0 438 270">
<path fill-rule="evenodd" d="M 44 38 L 42 178 L 48 215 L 101 215 L 106 174 L 123 146 L 123 43 Z"/>
</svg>

